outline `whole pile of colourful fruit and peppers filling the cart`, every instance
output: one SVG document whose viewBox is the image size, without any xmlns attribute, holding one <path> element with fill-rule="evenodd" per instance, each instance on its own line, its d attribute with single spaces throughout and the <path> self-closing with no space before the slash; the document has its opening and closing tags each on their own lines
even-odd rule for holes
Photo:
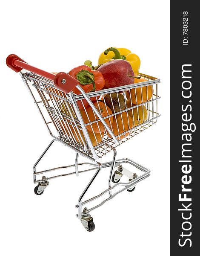
<svg viewBox="0 0 200 256">
<path fill-rule="evenodd" d="M 89 93 L 147 81 L 138 76 L 139 69 L 140 58 L 136 54 L 126 48 L 111 47 L 100 54 L 97 66 L 94 67 L 92 62 L 88 60 L 85 61 L 84 65 L 70 70 L 69 75 L 77 79 L 83 90 Z M 75 87 L 73 93 L 80 94 L 80 91 Z M 153 88 L 150 85 L 119 93 L 107 92 L 107 94 L 98 97 L 91 97 L 90 100 L 103 117 L 124 110 L 124 112 L 104 119 L 117 139 L 123 139 L 129 135 L 129 132 L 121 136 L 119 134 L 142 124 L 147 119 L 147 109 L 144 105 L 132 109 L 129 108 L 149 101 L 152 93 Z M 106 131 L 105 126 L 100 121 L 95 122 L 98 118 L 94 115 L 92 108 L 85 99 L 78 100 L 77 105 L 85 124 L 92 122 L 86 125 L 86 128 L 93 146 L 98 145 L 103 140 L 104 132 Z M 129 110 L 126 111 L 126 109 Z M 66 112 L 65 109 L 64 112 Z M 75 131 L 74 137 L 79 141 L 80 137 L 77 134 Z M 111 137 L 109 133 L 107 134 Z M 81 136 L 84 138 L 82 131 Z"/>
</svg>

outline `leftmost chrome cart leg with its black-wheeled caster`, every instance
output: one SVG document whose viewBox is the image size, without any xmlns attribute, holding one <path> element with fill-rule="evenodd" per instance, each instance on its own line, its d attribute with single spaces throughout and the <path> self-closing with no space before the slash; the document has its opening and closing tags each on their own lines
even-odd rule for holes
<svg viewBox="0 0 200 256">
<path fill-rule="evenodd" d="M 49 150 L 49 148 L 51 147 L 51 145 L 54 143 L 55 140 L 52 140 L 49 145 L 46 147 L 46 149 L 44 150 L 44 152 L 41 154 L 41 156 L 38 158 L 37 162 L 34 164 L 33 166 L 33 182 L 35 183 L 36 181 L 36 167 L 38 165 L 38 163 L 40 163 L 40 161 L 42 160 L 43 156 L 46 154 L 46 152 Z M 46 177 L 43 176 L 42 177 L 42 181 L 40 181 L 38 183 L 38 185 L 34 188 L 34 192 L 36 195 L 42 195 L 44 192 L 44 189 L 46 189 L 46 187 L 49 185 L 49 181 L 47 181 Z"/>
</svg>

